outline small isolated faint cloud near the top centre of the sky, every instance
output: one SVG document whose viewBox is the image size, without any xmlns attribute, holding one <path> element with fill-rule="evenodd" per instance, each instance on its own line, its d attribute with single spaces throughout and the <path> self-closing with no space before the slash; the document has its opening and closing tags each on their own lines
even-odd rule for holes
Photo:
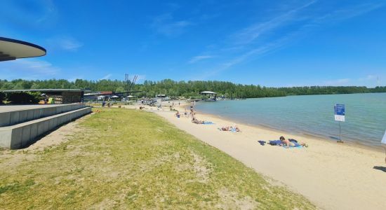
<svg viewBox="0 0 386 210">
<path fill-rule="evenodd" d="M 192 22 L 187 20 L 174 20 L 171 13 L 165 13 L 155 17 L 150 27 L 159 34 L 171 37 L 180 36 L 189 25 L 192 25 Z"/>
</svg>

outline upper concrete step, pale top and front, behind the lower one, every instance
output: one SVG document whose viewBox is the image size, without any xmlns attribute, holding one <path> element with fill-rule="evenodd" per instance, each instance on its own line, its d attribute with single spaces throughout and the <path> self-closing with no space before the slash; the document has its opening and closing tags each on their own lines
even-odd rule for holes
<svg viewBox="0 0 386 210">
<path fill-rule="evenodd" d="M 86 107 L 84 104 L 45 104 L 0 106 L 0 127 L 17 125 L 30 120 L 54 116 Z"/>
</svg>

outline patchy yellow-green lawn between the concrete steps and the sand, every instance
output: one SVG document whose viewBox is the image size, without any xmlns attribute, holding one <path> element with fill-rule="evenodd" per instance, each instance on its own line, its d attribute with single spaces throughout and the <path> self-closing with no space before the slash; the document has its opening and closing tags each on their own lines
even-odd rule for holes
<svg viewBox="0 0 386 210">
<path fill-rule="evenodd" d="M 154 113 L 102 110 L 60 146 L 0 151 L 0 209 L 315 209 Z"/>
</svg>

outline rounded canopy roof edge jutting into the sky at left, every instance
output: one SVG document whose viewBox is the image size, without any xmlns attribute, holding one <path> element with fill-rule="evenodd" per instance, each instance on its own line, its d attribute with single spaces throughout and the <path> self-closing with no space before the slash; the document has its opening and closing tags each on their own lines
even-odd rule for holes
<svg viewBox="0 0 386 210">
<path fill-rule="evenodd" d="M 0 37 L 0 62 L 46 55 L 46 49 L 33 43 Z"/>
</svg>

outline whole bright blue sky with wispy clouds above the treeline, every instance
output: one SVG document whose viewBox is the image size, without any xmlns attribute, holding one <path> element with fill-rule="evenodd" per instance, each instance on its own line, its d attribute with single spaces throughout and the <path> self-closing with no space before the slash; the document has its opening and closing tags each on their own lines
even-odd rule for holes
<svg viewBox="0 0 386 210">
<path fill-rule="evenodd" d="M 0 78 L 386 85 L 386 1 L 1 1 Z"/>
</svg>

